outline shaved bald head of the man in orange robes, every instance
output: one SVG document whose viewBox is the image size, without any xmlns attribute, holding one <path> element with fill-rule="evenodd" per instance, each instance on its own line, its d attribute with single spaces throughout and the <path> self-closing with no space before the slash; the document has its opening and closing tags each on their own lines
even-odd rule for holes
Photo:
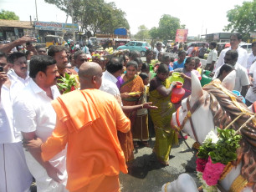
<svg viewBox="0 0 256 192">
<path fill-rule="evenodd" d="M 85 62 L 79 68 L 80 88 L 100 88 L 102 68 L 98 63 Z"/>
</svg>

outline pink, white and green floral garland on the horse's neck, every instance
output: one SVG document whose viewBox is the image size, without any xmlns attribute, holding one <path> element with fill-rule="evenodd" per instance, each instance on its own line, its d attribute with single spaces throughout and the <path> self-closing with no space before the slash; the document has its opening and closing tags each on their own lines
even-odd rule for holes
<svg viewBox="0 0 256 192">
<path fill-rule="evenodd" d="M 237 159 L 236 150 L 241 138 L 233 129 L 218 129 L 218 136 L 213 131 L 207 134 L 196 161 L 197 177 L 207 192 L 217 191 L 216 185 L 226 165 Z"/>
</svg>

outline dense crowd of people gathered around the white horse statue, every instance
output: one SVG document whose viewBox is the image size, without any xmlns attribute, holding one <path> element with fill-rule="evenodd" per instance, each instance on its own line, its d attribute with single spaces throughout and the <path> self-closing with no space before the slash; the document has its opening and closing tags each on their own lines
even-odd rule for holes
<svg viewBox="0 0 256 192">
<path fill-rule="evenodd" d="M 251 105 L 256 43 L 245 53 L 241 39 L 232 33 L 231 47 L 219 58 L 217 43 L 209 43 L 205 69 L 215 82 L 235 70 L 234 90 Z M 136 51 L 101 60 L 74 43 L 47 49 L 32 42 L 23 37 L 0 45 L 0 191 L 29 191 L 33 179 L 38 191 L 120 191 L 120 171 L 129 173 L 134 149 L 150 147 L 152 137 L 152 152 L 160 164 L 169 164 L 179 137 L 170 122 L 181 104 L 171 102 L 177 83 L 170 76 L 183 78 L 187 98 L 192 73 L 202 78 L 204 46 L 199 58 L 180 50 L 175 59 L 156 43 L 144 62 Z M 25 53 L 13 49 L 24 43 Z M 70 75 L 74 91 L 64 93 L 59 83 Z"/>
</svg>

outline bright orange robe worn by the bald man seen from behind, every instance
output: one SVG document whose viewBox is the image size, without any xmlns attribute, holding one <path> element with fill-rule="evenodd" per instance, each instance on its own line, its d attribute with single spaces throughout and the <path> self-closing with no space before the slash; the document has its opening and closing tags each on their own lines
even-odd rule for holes
<svg viewBox="0 0 256 192">
<path fill-rule="evenodd" d="M 52 102 L 57 114 L 53 134 L 42 145 L 49 160 L 67 149 L 67 189 L 75 191 L 102 175 L 127 173 L 117 130 L 128 132 L 131 123 L 116 99 L 97 89 L 76 90 Z"/>
</svg>

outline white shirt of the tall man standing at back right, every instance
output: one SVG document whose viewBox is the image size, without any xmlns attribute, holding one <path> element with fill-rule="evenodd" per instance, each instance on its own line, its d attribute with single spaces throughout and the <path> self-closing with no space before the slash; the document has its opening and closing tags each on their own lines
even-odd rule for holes
<svg viewBox="0 0 256 192">
<path fill-rule="evenodd" d="M 215 65 L 213 72 L 215 72 L 217 70 L 217 68 L 223 66 L 223 64 L 225 63 L 224 57 L 225 57 L 227 51 L 229 51 L 229 50 L 231 50 L 231 47 L 223 49 L 222 52 L 219 54 L 218 61 Z M 237 48 L 237 51 L 238 51 L 237 63 L 242 65 L 243 68 L 247 68 L 247 58 L 248 58 L 247 51 L 244 48 L 240 48 L 240 47 Z"/>
</svg>

